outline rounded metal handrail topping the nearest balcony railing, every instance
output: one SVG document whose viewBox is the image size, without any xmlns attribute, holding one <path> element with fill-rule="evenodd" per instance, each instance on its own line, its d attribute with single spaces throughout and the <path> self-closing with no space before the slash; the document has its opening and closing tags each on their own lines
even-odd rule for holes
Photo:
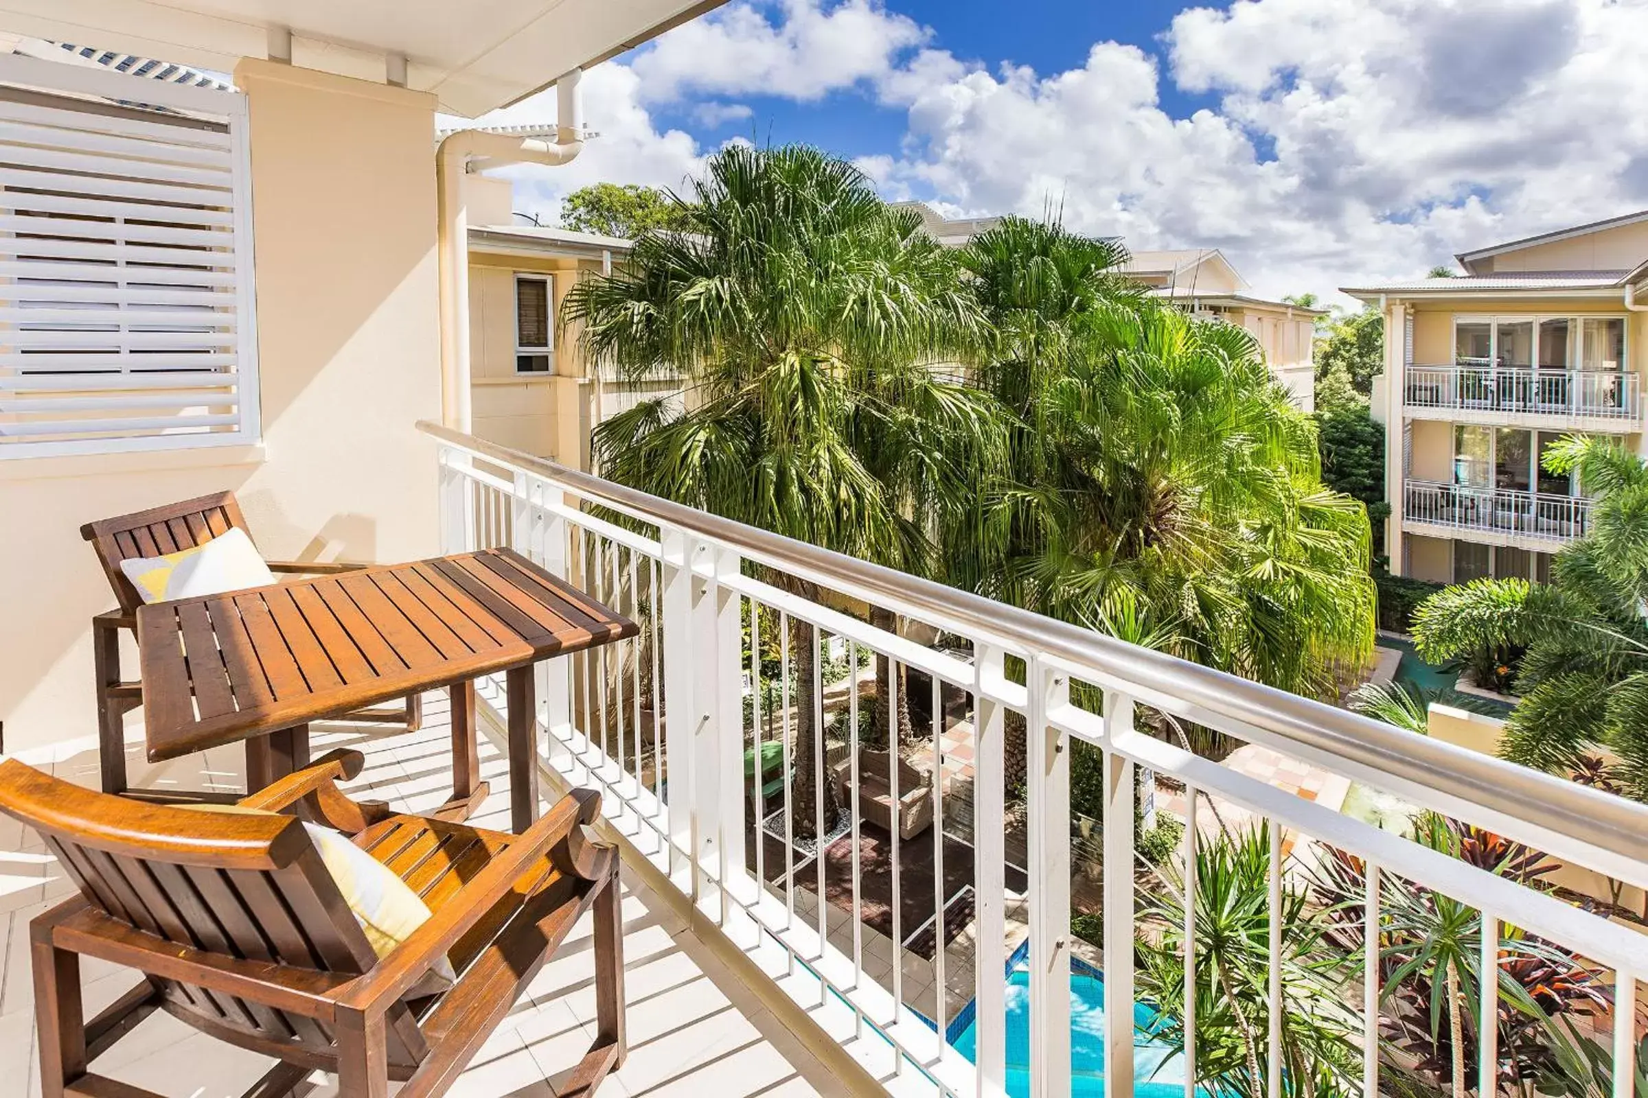
<svg viewBox="0 0 1648 1098">
<path fill-rule="evenodd" d="M 1633 882 L 1641 882 L 1648 872 L 1648 805 L 1416 736 L 1348 710 L 1152 652 L 1033 611 L 722 519 L 438 423 L 420 420 L 417 428 L 455 448 L 559 482 L 590 502 L 649 515 L 760 563 L 801 575 L 827 575 L 827 586 L 850 586 L 859 598 L 872 603 L 880 599 L 906 604 L 936 622 L 957 622 L 1023 650 L 1046 652 L 1068 663 L 1135 682 L 1149 691 L 1170 695 L 1210 714 L 1262 729 L 1302 754 L 1333 756 L 1414 787 L 1435 790 L 1495 818 L 1511 815 L 1505 805 L 1515 805 L 1516 820 L 1625 863 L 1610 869 L 1594 864 L 1594 869 Z"/>
</svg>

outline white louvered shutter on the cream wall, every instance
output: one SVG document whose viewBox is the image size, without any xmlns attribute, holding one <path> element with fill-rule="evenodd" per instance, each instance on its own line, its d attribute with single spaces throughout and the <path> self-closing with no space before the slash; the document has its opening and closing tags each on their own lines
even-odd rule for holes
<svg viewBox="0 0 1648 1098">
<path fill-rule="evenodd" d="M 246 97 L 0 58 L 0 459 L 254 443 Z"/>
</svg>

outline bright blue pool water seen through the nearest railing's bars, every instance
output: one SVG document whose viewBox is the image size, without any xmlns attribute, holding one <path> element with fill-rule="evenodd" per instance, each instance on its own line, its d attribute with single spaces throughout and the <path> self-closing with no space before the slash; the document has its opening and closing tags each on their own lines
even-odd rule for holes
<svg viewBox="0 0 1648 1098">
<path fill-rule="evenodd" d="M 1185 1058 L 1144 1034 L 1150 1007 L 1134 1004 L 1134 1095 L 1137 1098 L 1183 1098 Z M 979 1022 L 974 1019 L 956 1037 L 956 1050 L 974 1060 Z M 1071 1098 L 1104 1095 L 1104 979 L 1096 973 L 1070 976 L 1070 1093 Z M 1007 1093 L 1030 1093 L 1030 973 L 1015 968 L 1007 978 Z"/>
</svg>

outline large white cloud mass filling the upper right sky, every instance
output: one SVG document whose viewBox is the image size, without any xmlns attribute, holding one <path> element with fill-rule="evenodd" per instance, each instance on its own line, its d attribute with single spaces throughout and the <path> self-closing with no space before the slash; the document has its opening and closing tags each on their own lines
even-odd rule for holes
<svg viewBox="0 0 1648 1098">
<path fill-rule="evenodd" d="M 1643 0 L 1238 0 L 1175 18 L 1165 74 L 1099 43 L 1051 76 L 905 77 L 883 178 L 1322 293 L 1648 206 L 1645 36 Z M 1163 79 L 1218 110 L 1170 117 Z"/>
</svg>

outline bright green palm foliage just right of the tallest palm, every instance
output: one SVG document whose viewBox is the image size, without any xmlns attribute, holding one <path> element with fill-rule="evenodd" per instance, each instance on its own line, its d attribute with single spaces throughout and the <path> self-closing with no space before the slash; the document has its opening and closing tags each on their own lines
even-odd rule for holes
<svg viewBox="0 0 1648 1098">
<path fill-rule="evenodd" d="M 1254 339 L 1149 298 L 1126 257 L 1012 217 L 966 249 L 995 329 L 981 382 L 1020 426 L 1014 487 L 981 504 L 989 538 L 969 522 L 948 555 L 957 581 L 1330 693 L 1373 650 L 1366 512 L 1323 487 L 1313 425 Z"/>
</svg>

